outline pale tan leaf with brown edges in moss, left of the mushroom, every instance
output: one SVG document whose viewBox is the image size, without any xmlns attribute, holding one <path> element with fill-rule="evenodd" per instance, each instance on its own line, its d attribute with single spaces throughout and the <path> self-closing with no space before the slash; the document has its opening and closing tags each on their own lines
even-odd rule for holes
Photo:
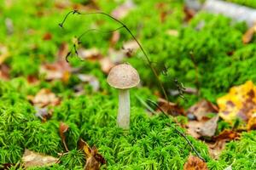
<svg viewBox="0 0 256 170">
<path fill-rule="evenodd" d="M 42 88 L 36 96 L 28 96 L 28 99 L 32 101 L 33 105 L 40 108 L 47 105 L 59 105 L 61 103 L 61 99 L 57 98 L 54 93 L 46 88 Z"/>
</svg>

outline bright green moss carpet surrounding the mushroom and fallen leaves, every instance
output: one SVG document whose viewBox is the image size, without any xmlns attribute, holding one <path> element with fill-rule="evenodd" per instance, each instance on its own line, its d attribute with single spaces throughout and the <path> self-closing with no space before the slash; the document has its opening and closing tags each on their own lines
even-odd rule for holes
<svg viewBox="0 0 256 170">
<path fill-rule="evenodd" d="M 74 87 L 80 82 L 76 75 L 71 75 L 65 83 L 58 80 L 48 82 L 38 75 L 41 64 L 55 61 L 62 42 L 70 42 L 72 47 L 72 37 L 89 28 L 95 19 L 101 23 L 102 30 L 114 29 L 118 27 L 116 23 L 99 16 L 74 17 L 67 20 L 67 30 L 63 31 L 58 23 L 80 1 L 73 0 L 65 8 L 56 5 L 60 2 L 50 0 L 7 2 L 0 3 L 0 15 L 3 16 L 0 22 L 11 19 L 15 31 L 9 36 L 6 26 L 0 26 L 0 44 L 8 47 L 10 53 L 4 61 L 10 68 L 10 80 L 0 81 L 0 165 L 20 162 L 25 149 L 58 156 L 57 153 L 63 151 L 59 125 L 65 122 L 70 127 L 67 138 L 70 152 L 61 157 L 60 164 L 30 169 L 82 169 L 85 160 L 84 153 L 77 148 L 79 138 L 96 145 L 105 157 L 108 163 L 102 169 L 183 169 L 189 152 L 195 153 L 183 137 L 166 127 L 166 123 L 175 125 L 172 118 L 148 116 L 136 97 L 155 100 L 158 89 L 155 80 L 149 78 L 154 76 L 140 51 L 125 60 L 137 68 L 143 83 L 142 88 L 131 90 L 131 129 L 128 132 L 116 127 L 118 94 L 109 88 L 98 63 L 81 62 L 76 57 L 70 59 L 73 68 L 79 67 L 80 73 L 94 75 L 100 82 L 98 92 L 93 92 L 90 85 L 85 84 L 86 95 L 75 94 Z M 111 13 L 122 2 L 97 1 L 97 5 L 102 11 Z M 200 99 L 215 102 L 232 86 L 249 79 L 256 82 L 253 70 L 256 68 L 255 38 L 248 44 L 241 41 L 247 31 L 245 23 L 234 23 L 222 15 L 207 13 L 198 13 L 184 23 L 183 1 L 134 0 L 134 3 L 136 7 L 122 21 L 142 42 L 150 59 L 166 63 L 167 76 L 161 75 L 160 80 L 167 91 L 175 88 L 173 79 L 176 77 L 185 87 L 200 88 L 200 96 L 185 95 L 188 102 L 170 96 L 172 101 L 184 108 Z M 163 6 L 159 8 L 161 4 Z M 166 11 L 168 13 L 162 22 L 160 14 Z M 177 31 L 177 35 L 166 33 L 170 30 Z M 50 41 L 42 38 L 46 33 L 50 33 Z M 126 31 L 120 30 L 120 35 L 116 49 L 131 39 Z M 107 54 L 110 37 L 109 34 L 91 33 L 83 38 L 81 45 L 99 48 L 102 54 Z M 191 52 L 194 61 L 189 55 Z M 195 66 L 198 71 L 195 71 Z M 27 77 L 30 76 L 38 77 L 39 83 L 29 84 Z M 50 89 L 61 98 L 61 105 L 49 107 L 52 116 L 46 122 L 35 116 L 35 108 L 27 99 L 28 95 L 35 95 L 42 88 Z M 185 133 L 182 127 L 178 129 Z M 209 169 L 220 170 L 232 165 L 232 169 L 238 170 L 256 169 L 255 136 L 254 131 L 242 133 L 240 140 L 226 145 L 218 160 L 209 156 L 207 144 L 188 138 L 207 161 Z"/>
</svg>

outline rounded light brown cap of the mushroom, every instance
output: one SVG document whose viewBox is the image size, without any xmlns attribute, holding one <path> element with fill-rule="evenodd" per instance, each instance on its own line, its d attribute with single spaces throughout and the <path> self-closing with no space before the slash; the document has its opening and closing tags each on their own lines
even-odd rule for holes
<svg viewBox="0 0 256 170">
<path fill-rule="evenodd" d="M 109 71 L 107 82 L 113 88 L 133 88 L 140 82 L 140 77 L 131 65 L 121 64 L 114 66 Z"/>
</svg>

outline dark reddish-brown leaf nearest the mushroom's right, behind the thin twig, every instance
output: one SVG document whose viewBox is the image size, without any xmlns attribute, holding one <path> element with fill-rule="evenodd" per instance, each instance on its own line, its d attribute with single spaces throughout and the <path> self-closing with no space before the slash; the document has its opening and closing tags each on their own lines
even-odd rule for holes
<svg viewBox="0 0 256 170">
<path fill-rule="evenodd" d="M 168 102 L 166 99 L 158 99 L 158 105 L 162 111 L 165 111 L 167 114 L 172 116 L 184 115 L 184 110 L 179 105 Z M 157 111 L 160 111 L 159 109 Z"/>
</svg>

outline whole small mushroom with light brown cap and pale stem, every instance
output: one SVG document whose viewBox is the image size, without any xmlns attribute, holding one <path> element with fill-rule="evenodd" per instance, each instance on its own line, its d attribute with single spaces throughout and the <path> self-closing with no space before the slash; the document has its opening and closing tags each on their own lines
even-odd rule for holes
<svg viewBox="0 0 256 170">
<path fill-rule="evenodd" d="M 121 64 L 114 66 L 108 73 L 108 84 L 119 89 L 119 110 L 117 124 L 128 129 L 130 125 L 130 94 L 129 89 L 136 87 L 140 77 L 131 65 Z"/>
</svg>

